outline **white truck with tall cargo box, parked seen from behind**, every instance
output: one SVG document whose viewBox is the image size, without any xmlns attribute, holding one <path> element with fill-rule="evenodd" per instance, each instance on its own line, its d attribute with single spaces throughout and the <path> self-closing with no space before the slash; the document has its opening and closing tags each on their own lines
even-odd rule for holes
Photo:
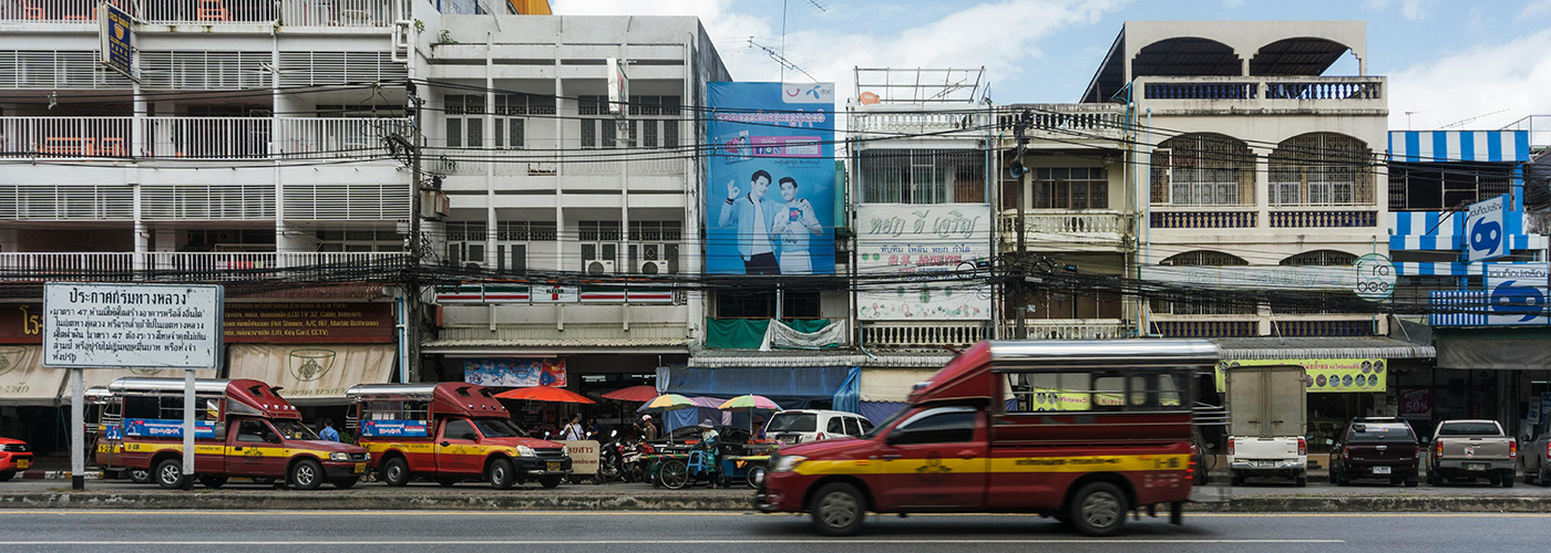
<svg viewBox="0 0 1551 553">
<path fill-rule="evenodd" d="M 1309 482 L 1307 387 L 1303 367 L 1230 367 L 1224 372 L 1228 407 L 1228 471 L 1233 485 L 1249 477 Z"/>
</svg>

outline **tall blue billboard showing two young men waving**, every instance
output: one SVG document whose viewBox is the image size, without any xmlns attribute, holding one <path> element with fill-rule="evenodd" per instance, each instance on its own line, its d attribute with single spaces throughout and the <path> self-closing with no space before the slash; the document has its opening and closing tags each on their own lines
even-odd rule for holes
<svg viewBox="0 0 1551 553">
<path fill-rule="evenodd" d="M 710 82 L 707 274 L 834 274 L 834 84 Z"/>
</svg>

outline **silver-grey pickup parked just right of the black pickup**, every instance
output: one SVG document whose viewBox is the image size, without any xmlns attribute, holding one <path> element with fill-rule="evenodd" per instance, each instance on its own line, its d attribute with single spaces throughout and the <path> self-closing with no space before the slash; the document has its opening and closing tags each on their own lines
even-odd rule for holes
<svg viewBox="0 0 1551 553">
<path fill-rule="evenodd" d="M 1427 443 L 1427 483 L 1484 479 L 1514 486 L 1518 441 L 1495 420 L 1446 420 Z"/>
</svg>

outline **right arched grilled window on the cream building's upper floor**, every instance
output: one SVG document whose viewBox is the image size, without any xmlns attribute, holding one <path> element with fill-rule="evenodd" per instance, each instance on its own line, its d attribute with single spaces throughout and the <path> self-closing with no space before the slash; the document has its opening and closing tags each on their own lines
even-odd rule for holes
<svg viewBox="0 0 1551 553">
<path fill-rule="evenodd" d="M 1289 138 L 1270 153 L 1270 204 L 1351 206 L 1373 204 L 1373 170 L 1368 144 L 1337 133 Z"/>
</svg>

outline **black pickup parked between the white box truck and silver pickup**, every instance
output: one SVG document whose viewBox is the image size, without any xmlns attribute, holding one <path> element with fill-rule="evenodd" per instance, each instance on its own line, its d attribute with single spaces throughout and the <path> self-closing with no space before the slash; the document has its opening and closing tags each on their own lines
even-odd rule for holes
<svg viewBox="0 0 1551 553">
<path fill-rule="evenodd" d="M 1354 418 L 1335 434 L 1331 482 L 1345 486 L 1359 479 L 1383 479 L 1415 488 L 1419 454 L 1416 431 L 1405 420 Z"/>
</svg>

